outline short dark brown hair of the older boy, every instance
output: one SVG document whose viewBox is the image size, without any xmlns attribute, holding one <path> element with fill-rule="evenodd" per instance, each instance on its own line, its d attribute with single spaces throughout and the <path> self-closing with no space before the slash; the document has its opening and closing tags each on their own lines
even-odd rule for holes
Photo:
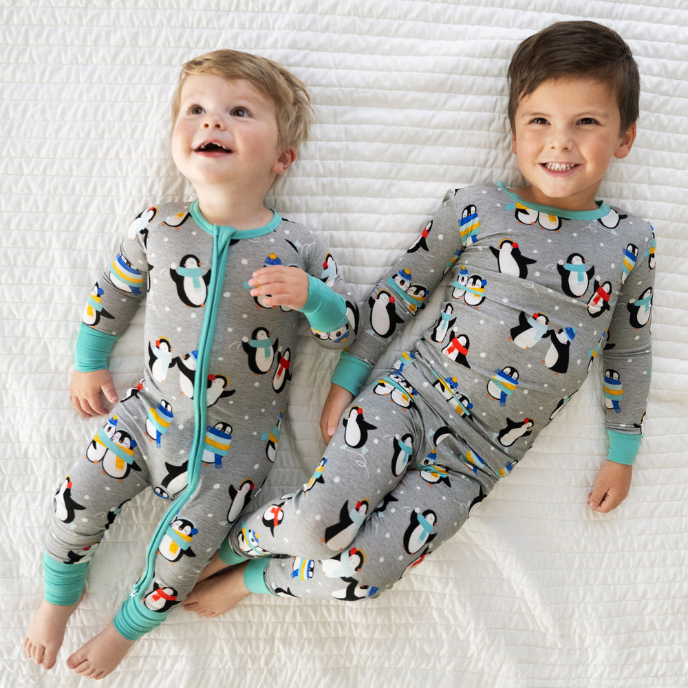
<svg viewBox="0 0 688 688">
<path fill-rule="evenodd" d="M 519 44 L 511 58 L 508 116 L 548 79 L 590 76 L 605 83 L 621 114 L 621 131 L 638 119 L 640 76 L 630 48 L 614 30 L 594 21 L 559 21 Z"/>
</svg>

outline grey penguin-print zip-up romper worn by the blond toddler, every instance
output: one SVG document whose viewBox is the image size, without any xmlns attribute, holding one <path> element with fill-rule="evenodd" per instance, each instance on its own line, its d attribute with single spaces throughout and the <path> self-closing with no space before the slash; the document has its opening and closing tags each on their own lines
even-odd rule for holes
<svg viewBox="0 0 688 688">
<path fill-rule="evenodd" d="M 154 571 L 139 584 L 149 611 L 184 599 L 275 458 L 300 316 L 250 296 L 252 272 L 270 264 L 298 266 L 331 288 L 327 312 L 309 315 L 323 347 L 353 341 L 347 312 L 358 308 L 332 255 L 277 213 L 237 231 L 209 226 L 197 204 L 150 208 L 89 297 L 82 327 L 113 340 L 146 297 L 146 365 L 61 484 L 47 550 L 63 563 L 87 561 L 122 504 L 151 486 L 174 506 L 158 528 Z"/>
</svg>

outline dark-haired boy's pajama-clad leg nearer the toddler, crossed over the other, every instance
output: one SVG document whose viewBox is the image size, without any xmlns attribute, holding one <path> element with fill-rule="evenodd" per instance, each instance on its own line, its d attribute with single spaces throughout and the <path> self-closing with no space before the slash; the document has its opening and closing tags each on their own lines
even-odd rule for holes
<svg viewBox="0 0 688 688">
<path fill-rule="evenodd" d="M 329 559 L 354 539 L 407 470 L 424 455 L 416 405 L 373 387 L 354 400 L 310 481 L 237 521 L 220 553 L 226 563 L 298 552 Z"/>
</svg>

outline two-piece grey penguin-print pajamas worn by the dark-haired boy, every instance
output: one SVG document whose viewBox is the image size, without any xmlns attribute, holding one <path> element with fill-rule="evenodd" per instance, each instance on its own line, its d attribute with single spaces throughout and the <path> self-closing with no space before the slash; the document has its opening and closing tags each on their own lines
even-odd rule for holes
<svg viewBox="0 0 688 688">
<path fill-rule="evenodd" d="M 641 432 L 649 224 L 606 204 L 528 206 L 502 185 L 451 191 L 363 304 L 333 382 L 359 369 L 352 357 L 374 367 L 444 277 L 436 323 L 354 399 L 308 484 L 230 531 L 223 548 L 278 555 L 264 564 L 275 594 L 365 599 L 394 585 L 513 469 L 596 356 L 608 428 Z"/>
</svg>

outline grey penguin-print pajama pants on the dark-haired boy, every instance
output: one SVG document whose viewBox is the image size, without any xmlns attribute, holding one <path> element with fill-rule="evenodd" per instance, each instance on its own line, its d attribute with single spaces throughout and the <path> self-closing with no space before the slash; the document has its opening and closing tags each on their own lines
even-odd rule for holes
<svg viewBox="0 0 688 688">
<path fill-rule="evenodd" d="M 377 596 L 454 535 L 496 482 L 466 456 L 427 400 L 409 402 L 397 382 L 380 380 L 345 412 L 308 484 L 252 506 L 220 555 L 271 555 L 248 570 L 263 566 L 273 594 Z"/>
</svg>

